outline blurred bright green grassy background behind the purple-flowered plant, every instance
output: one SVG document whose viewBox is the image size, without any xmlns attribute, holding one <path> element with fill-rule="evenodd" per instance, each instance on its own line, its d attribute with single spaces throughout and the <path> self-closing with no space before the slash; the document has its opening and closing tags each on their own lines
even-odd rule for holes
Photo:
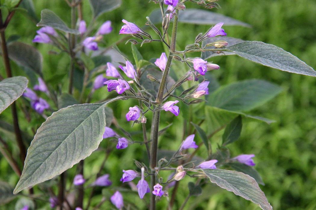
<svg viewBox="0 0 316 210">
<path fill-rule="evenodd" d="M 252 26 L 245 28 L 224 24 L 223 28 L 228 36 L 276 45 L 316 69 L 316 1 L 219 0 L 218 3 L 222 8 L 212 11 Z M 40 11 L 48 8 L 69 25 L 70 10 L 64 1 L 34 1 L 34 6 L 39 19 Z M 186 6 L 202 9 L 191 2 Z M 157 5 L 148 1 L 123 0 L 120 8 L 101 15 L 98 18 L 98 26 L 106 20 L 111 20 L 113 26 L 112 33 L 104 38 L 106 44 L 117 42 L 121 38 L 118 32 L 123 25 L 122 19 L 143 26 L 146 22 L 145 17 L 156 8 Z M 87 0 L 84 1 L 83 11 L 83 15 L 87 17 L 86 21 L 89 22 L 91 11 Z M 193 43 L 197 33 L 204 33 L 209 27 L 179 24 L 178 40 L 181 42 L 177 43 L 178 49 L 181 50 L 187 44 Z M 21 36 L 20 41 L 32 44 L 36 30 L 38 30 L 36 22 L 17 12 L 8 26 L 6 35 L 8 37 L 18 34 Z M 46 81 L 60 82 L 65 72 L 68 72 L 69 58 L 64 54 L 49 55 L 47 51 L 53 49 L 49 45 L 35 43 L 32 45 L 43 54 L 43 72 Z M 118 46 L 124 53 L 130 54 L 130 44 L 124 45 L 123 42 Z M 163 51 L 161 43 L 146 44 L 142 48 L 139 46 L 137 48 L 144 59 L 148 60 L 158 58 Z M 269 103 L 249 112 L 251 115 L 266 117 L 276 122 L 268 125 L 264 122 L 244 120 L 241 138 L 228 147 L 232 156 L 242 153 L 256 155 L 255 168 L 265 183 L 260 187 L 273 209 L 316 209 L 316 78 L 271 69 L 234 55 L 218 56 L 209 61 L 220 65 L 220 70 L 212 73 L 221 85 L 256 78 L 274 82 L 283 88 L 283 92 Z M 1 73 L 4 71 L 2 61 L 0 71 Z M 15 74 L 21 74 L 21 71 L 16 71 Z M 120 105 L 128 107 L 128 105 Z M 125 115 L 119 113 L 120 110 L 120 106 L 114 110 L 116 117 Z M 38 123 L 40 125 L 41 122 Z M 179 129 L 182 128 L 181 126 L 179 125 Z M 174 131 L 173 134 L 176 135 L 176 132 Z M 112 157 L 110 159 L 112 162 L 108 162 L 108 169 L 116 171 L 116 164 L 131 159 L 130 155 L 133 151 L 120 154 L 122 158 L 120 160 Z M 128 167 L 128 164 L 130 163 L 127 162 L 123 166 Z M 0 158 L 1 178 L 4 180 L 9 174 L 5 174 L 3 170 L 8 168 L 4 159 Z M 217 194 L 213 195 L 214 192 Z M 189 203 L 193 204 L 188 205 L 186 209 L 260 209 L 252 202 L 220 188 L 205 194 L 207 196 L 191 197 Z M 210 194 L 212 196 L 209 199 Z M 185 199 L 181 196 L 181 194 L 177 196 L 178 207 L 181 205 L 181 199 Z"/>
</svg>

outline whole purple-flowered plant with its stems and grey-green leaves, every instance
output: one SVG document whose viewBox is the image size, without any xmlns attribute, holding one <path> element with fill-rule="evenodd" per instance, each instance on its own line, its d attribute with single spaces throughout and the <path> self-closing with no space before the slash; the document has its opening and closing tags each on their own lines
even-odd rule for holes
<svg viewBox="0 0 316 210">
<path fill-rule="evenodd" d="M 46 119 L 40 128 L 34 128 L 34 131 L 37 131 L 34 132 L 27 153 L 23 139 L 19 137 L 21 131 L 18 125 L 15 125 L 17 144 L 24 162 L 22 172 L 15 158 L 5 148 L 6 143 L 1 137 L 1 143 L 7 149 L 2 149 L 1 152 L 6 155 L 17 175 L 21 175 L 14 194 L 24 190 L 23 195 L 32 198 L 19 200 L 17 209 L 35 209 L 37 205 L 48 206 L 48 203 L 52 208 L 59 206 L 60 209 L 104 209 L 109 205 L 107 202 L 112 202 L 118 209 L 153 210 L 159 202 L 160 208 L 173 209 L 176 193 L 185 180 L 190 180 L 187 184 L 189 190 L 179 209 L 185 207 L 191 196 L 202 194 L 203 188 L 210 182 L 258 204 L 262 209 L 272 209 L 258 185 L 263 184 L 263 181 L 253 168 L 255 163 L 252 158 L 255 155 L 240 154 L 232 157 L 227 145 L 239 139 L 243 117 L 271 122 L 262 117 L 246 115 L 243 111 L 251 110 L 271 99 L 280 92 L 280 88 L 270 82 L 248 80 L 211 92 L 210 70 L 220 68 L 211 62 L 211 58 L 237 54 L 282 71 L 314 77 L 316 72 L 276 46 L 228 37 L 224 31 L 225 23 L 221 20 L 210 22 L 213 26 L 208 31 L 196 34 L 192 44 L 178 49 L 177 43 L 181 41 L 177 40 L 177 30 L 181 30 L 178 28 L 179 21 L 194 22 L 201 16 L 212 16 L 214 21 L 222 17 L 206 10 L 187 9 L 187 1 L 150 1 L 159 9 L 150 17 L 144 18 L 144 24 L 150 26 L 147 29 L 129 22 L 133 20 L 122 20 L 124 25 L 118 33 L 130 34 L 133 37 L 127 41 L 132 43 L 133 60 L 122 54 L 125 60 L 119 63 L 116 62 L 117 57 L 104 56 L 107 49 L 98 47 L 103 35 L 112 31 L 111 22 L 106 21 L 101 26 L 96 26 L 95 20 L 100 14 L 119 6 L 120 1 L 90 0 L 94 16 L 89 26 L 84 21 L 80 0 L 66 1 L 71 8 L 70 28 L 54 12 L 44 9 L 37 24 L 41 28 L 33 42 L 52 44 L 56 53 L 69 55 L 67 88 L 62 85 L 53 87 L 45 82 L 41 73 L 40 54 L 36 49 L 19 42 L 5 43 L 2 31 L 7 23 L 1 21 L 2 56 L 7 71 L 10 72 L 11 58 L 38 75 L 38 84 L 33 88 L 27 88 L 25 77 L 12 77 L 9 73 L 6 79 L 2 76 L 1 111 L 13 103 L 13 119 L 17 118 L 14 101 L 24 92 L 24 101 L 21 102 L 24 115 L 29 116 L 31 113 Z M 219 8 L 217 1 L 191 2 L 204 8 Z M 17 6 L 18 4 L 14 5 Z M 7 19 L 11 14 L 9 9 Z M 240 24 L 232 19 L 226 20 L 231 21 L 230 25 Z M 187 33 L 194 31 L 187 30 Z M 163 43 L 165 51 L 161 51 L 159 58 L 146 61 L 142 57 L 146 52 L 138 51 L 135 45 L 154 42 Z M 120 53 L 115 45 L 113 48 Z M 30 57 L 25 58 L 23 50 L 30 50 L 32 54 L 29 56 L 37 58 L 38 63 L 26 62 Z M 199 57 L 195 56 L 197 53 L 201 53 Z M 34 72 L 29 74 L 30 78 L 36 75 Z M 108 91 L 104 91 L 102 99 L 95 99 L 101 102 L 89 103 L 95 90 L 104 85 Z M 119 103 L 119 100 L 127 102 L 127 99 L 132 101 L 130 103 L 133 105 L 125 110 L 122 119 L 114 118 L 109 105 Z M 180 132 L 183 133 L 182 138 L 174 139 L 165 134 L 174 125 L 170 123 L 163 128 L 160 125 L 164 125 L 166 119 L 179 123 L 177 118 L 185 121 L 183 124 L 186 129 Z M 14 122 L 17 122 L 17 119 Z M 122 126 L 127 122 L 131 122 L 130 130 L 125 130 Z M 210 140 L 221 129 L 224 129 L 222 143 L 214 150 Z M 197 135 L 202 139 L 199 144 Z M 82 160 L 99 147 L 102 139 L 108 141 L 107 148 L 103 148 L 104 160 L 101 164 L 98 162 L 98 173 L 86 177 L 85 163 Z M 168 147 L 158 146 L 169 142 L 177 143 L 177 148 L 168 150 Z M 144 150 L 145 157 L 140 158 L 134 154 L 135 157 L 131 159 L 134 159 L 135 165 L 129 165 L 128 168 L 120 168 L 121 166 L 117 165 L 122 171 L 121 174 L 104 174 L 108 157 L 118 154 L 117 150 L 128 151 L 131 145 L 136 145 L 138 151 Z M 76 176 L 71 183 L 67 183 L 67 169 L 75 164 Z M 58 186 L 43 183 L 57 175 Z M 120 179 L 122 184 L 114 186 L 109 177 L 112 181 Z M 33 189 L 34 185 L 38 187 Z M 101 197 L 96 193 L 97 187 L 104 187 Z M 27 188 L 28 191 L 25 190 Z M 137 192 L 139 197 L 133 202 L 129 197 Z M 7 200 L 12 198 L 8 197 Z M 140 199 L 144 202 L 139 202 Z M 103 205 L 104 203 L 106 205 Z"/>
</svg>

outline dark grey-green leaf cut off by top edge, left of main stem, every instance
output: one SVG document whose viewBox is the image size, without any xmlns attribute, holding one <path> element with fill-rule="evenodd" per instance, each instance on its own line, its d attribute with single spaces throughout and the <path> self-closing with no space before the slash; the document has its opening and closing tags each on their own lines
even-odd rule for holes
<svg viewBox="0 0 316 210">
<path fill-rule="evenodd" d="M 92 7 L 94 18 L 118 8 L 122 3 L 121 0 L 89 0 L 89 2 Z"/>
</svg>

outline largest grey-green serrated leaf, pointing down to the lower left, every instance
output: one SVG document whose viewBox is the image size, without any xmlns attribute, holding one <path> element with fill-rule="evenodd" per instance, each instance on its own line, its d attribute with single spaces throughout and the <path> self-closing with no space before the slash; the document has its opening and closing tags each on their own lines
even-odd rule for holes
<svg viewBox="0 0 316 210">
<path fill-rule="evenodd" d="M 68 106 L 48 117 L 27 150 L 14 194 L 52 179 L 96 150 L 105 129 L 105 103 Z"/>
</svg>

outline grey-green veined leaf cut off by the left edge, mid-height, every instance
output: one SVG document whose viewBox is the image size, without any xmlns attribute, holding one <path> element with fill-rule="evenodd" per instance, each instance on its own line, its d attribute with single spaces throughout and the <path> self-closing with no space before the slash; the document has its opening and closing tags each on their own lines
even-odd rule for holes
<svg viewBox="0 0 316 210">
<path fill-rule="evenodd" d="M 26 77 L 10 77 L 0 82 L 0 113 L 18 99 L 27 88 Z"/>
</svg>

